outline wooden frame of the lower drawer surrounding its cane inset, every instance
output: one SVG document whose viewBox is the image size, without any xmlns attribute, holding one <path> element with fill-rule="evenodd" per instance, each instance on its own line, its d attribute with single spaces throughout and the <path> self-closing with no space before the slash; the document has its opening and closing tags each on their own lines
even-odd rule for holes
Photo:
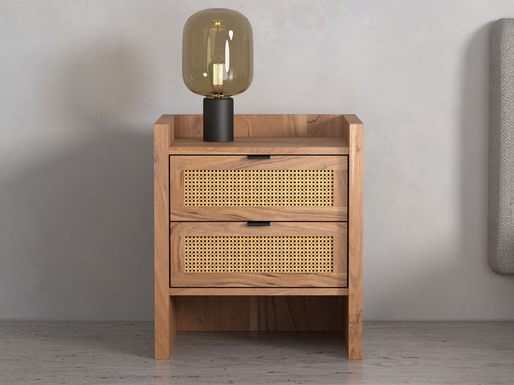
<svg viewBox="0 0 514 385">
<path fill-rule="evenodd" d="M 346 222 L 171 222 L 171 287 L 346 287 Z M 186 273 L 183 237 L 193 236 L 330 236 L 333 237 L 333 272 L 320 273 Z"/>
</svg>

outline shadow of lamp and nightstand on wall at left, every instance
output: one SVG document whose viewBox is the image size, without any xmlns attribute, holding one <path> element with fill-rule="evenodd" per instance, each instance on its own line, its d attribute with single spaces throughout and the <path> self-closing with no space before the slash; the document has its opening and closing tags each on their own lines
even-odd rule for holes
<svg viewBox="0 0 514 385">
<path fill-rule="evenodd" d="M 54 115 L 72 144 L 56 138 L 59 150 L 1 180 L 0 317 L 153 317 L 153 122 L 126 123 L 144 71 L 123 46 L 99 46 L 61 52 L 41 96 L 63 102 Z"/>
</svg>

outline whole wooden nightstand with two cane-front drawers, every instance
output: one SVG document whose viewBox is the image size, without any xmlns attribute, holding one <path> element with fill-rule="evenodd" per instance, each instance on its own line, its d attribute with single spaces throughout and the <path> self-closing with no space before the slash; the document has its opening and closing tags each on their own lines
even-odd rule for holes
<svg viewBox="0 0 514 385">
<path fill-rule="evenodd" d="M 154 125 L 155 354 L 176 330 L 342 330 L 362 359 L 363 124 L 201 115 Z"/>
</svg>

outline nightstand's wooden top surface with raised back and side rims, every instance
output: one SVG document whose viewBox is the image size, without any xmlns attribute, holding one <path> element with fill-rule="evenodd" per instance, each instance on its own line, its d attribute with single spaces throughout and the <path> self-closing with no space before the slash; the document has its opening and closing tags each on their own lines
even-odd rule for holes
<svg viewBox="0 0 514 385">
<path fill-rule="evenodd" d="M 204 142 L 203 116 L 163 115 L 169 155 L 348 155 L 356 115 L 234 115 L 233 142 Z"/>
</svg>

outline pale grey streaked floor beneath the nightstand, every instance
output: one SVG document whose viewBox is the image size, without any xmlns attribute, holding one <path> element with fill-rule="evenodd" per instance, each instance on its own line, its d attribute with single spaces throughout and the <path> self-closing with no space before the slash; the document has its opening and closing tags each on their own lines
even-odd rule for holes
<svg viewBox="0 0 514 385">
<path fill-rule="evenodd" d="M 179 332 L 151 322 L 0 322 L 0 384 L 514 384 L 514 322 L 368 322 L 340 334 Z"/>
</svg>

